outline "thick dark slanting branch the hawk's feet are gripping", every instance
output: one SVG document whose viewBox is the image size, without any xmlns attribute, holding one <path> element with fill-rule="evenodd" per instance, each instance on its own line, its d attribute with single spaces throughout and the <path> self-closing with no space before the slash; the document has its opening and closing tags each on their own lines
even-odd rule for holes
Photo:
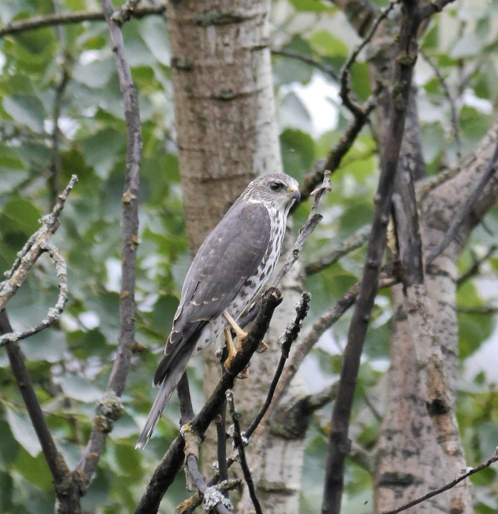
<svg viewBox="0 0 498 514">
<path fill-rule="evenodd" d="M 220 404 L 225 398 L 225 392 L 234 387 L 236 376 L 247 367 L 252 355 L 270 325 L 275 308 L 281 303 L 282 295 L 278 289 L 270 288 L 263 293 L 261 307 L 258 315 L 242 343 L 241 351 L 238 351 L 232 360 L 230 372 L 223 372 L 220 381 L 212 395 L 204 404 L 199 414 L 187 425 L 189 431 L 202 436 L 207 427 L 218 414 Z M 185 425 L 184 425 L 185 427 Z M 183 463 L 183 451 L 185 440 L 180 433 L 171 443 L 168 451 L 154 471 L 147 489 L 135 511 L 136 514 L 155 514 L 158 511 L 161 499 L 167 491 Z"/>
</svg>

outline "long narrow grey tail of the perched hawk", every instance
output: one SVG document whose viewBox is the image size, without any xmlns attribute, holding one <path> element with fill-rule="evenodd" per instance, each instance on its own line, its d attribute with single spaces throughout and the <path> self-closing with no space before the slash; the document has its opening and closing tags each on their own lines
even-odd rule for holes
<svg viewBox="0 0 498 514">
<path fill-rule="evenodd" d="M 190 352 L 183 352 L 179 354 L 176 362 L 170 366 L 166 378 L 159 386 L 158 394 L 154 400 L 154 403 L 152 403 L 149 415 L 147 416 L 147 420 L 145 421 L 144 428 L 139 435 L 135 448 L 143 450 L 145 445 L 149 442 L 152 432 L 154 432 L 154 429 L 156 428 L 156 425 L 161 418 L 161 414 L 166 407 L 169 398 L 171 398 L 173 391 L 175 391 L 176 387 L 178 386 L 180 378 L 182 378 L 183 373 L 187 369 L 187 364 L 194 351 L 194 347 Z"/>
</svg>

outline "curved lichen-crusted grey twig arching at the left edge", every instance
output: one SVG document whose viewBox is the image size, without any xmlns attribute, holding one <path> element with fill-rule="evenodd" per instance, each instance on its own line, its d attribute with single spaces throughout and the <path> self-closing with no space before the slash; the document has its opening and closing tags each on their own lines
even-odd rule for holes
<svg viewBox="0 0 498 514">
<path fill-rule="evenodd" d="M 28 328 L 23 332 L 11 332 L 9 334 L 4 334 L 0 336 L 0 347 L 5 346 L 8 343 L 12 343 L 14 341 L 19 341 L 21 339 L 26 339 L 29 336 L 37 334 L 50 326 L 54 321 L 58 320 L 64 310 L 64 306 L 67 302 L 67 269 L 66 263 L 62 258 L 59 250 L 55 248 L 49 241 L 46 241 L 41 245 L 41 249 L 46 251 L 50 258 L 53 261 L 55 271 L 57 273 L 57 278 L 59 282 L 59 298 L 55 305 L 48 310 L 47 315 L 43 319 L 43 321 L 36 326 Z"/>
</svg>

